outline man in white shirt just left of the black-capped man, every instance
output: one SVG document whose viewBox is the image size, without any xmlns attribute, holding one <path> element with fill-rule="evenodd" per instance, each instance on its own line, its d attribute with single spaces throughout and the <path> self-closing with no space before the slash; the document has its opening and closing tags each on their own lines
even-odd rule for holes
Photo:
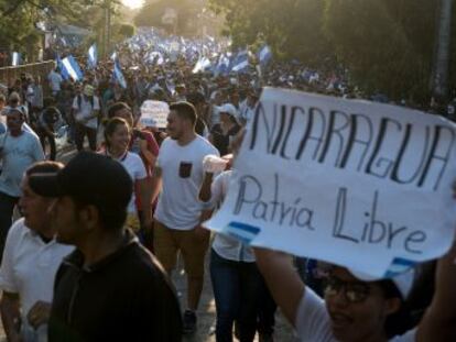
<svg viewBox="0 0 456 342">
<path fill-rule="evenodd" d="M 36 195 L 28 179 L 30 175 L 56 173 L 62 167 L 54 162 L 34 164 L 22 181 L 19 205 L 24 217 L 8 233 L 0 268 L 0 310 L 8 341 L 47 341 L 54 277 L 73 247 L 54 240 L 47 213 L 53 200 Z"/>
</svg>

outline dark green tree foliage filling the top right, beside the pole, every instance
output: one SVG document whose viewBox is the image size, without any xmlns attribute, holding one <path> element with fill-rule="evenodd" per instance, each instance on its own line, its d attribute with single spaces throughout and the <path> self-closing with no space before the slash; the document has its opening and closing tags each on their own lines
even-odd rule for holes
<svg viewBox="0 0 456 342">
<path fill-rule="evenodd" d="M 235 46 L 267 41 L 274 55 L 317 66 L 343 62 L 355 84 L 426 101 L 439 0 L 210 0 Z M 454 7 L 456 11 L 456 7 Z M 454 13 L 455 14 L 455 13 Z M 456 16 L 452 59 L 456 57 Z M 452 73 L 452 84 L 456 84 Z"/>
</svg>

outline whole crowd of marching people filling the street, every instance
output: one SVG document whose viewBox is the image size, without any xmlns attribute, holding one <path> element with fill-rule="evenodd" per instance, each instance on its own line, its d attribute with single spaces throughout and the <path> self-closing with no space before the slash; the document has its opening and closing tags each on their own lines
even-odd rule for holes
<svg viewBox="0 0 456 342">
<path fill-rule="evenodd" d="M 273 341 L 276 306 L 302 341 L 456 340 L 456 249 L 415 272 L 363 282 L 347 268 L 211 239 L 202 227 L 226 197 L 262 87 L 355 97 L 345 70 L 293 62 L 195 73 L 192 57 L 158 63 L 131 44 L 117 55 L 124 85 L 112 76 L 116 58 L 96 68 L 80 60 L 80 80 L 57 65 L 0 96 L 9 341 L 181 341 L 198 327 L 208 250 L 217 341 Z M 170 104 L 165 130 L 141 123 L 146 100 Z M 62 126 L 77 151 L 66 166 L 55 162 Z M 183 310 L 171 282 L 178 257 Z"/>
</svg>

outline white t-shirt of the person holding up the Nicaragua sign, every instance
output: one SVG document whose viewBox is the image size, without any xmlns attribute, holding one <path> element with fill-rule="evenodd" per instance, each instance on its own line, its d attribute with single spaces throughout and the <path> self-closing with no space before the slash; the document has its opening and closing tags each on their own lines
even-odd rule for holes
<svg viewBox="0 0 456 342">
<path fill-rule="evenodd" d="M 330 329 L 330 318 L 325 301 L 310 287 L 305 287 L 296 315 L 296 334 L 305 342 L 337 342 Z M 390 342 L 414 342 L 416 330 L 411 330 L 401 337 L 394 337 Z"/>
</svg>

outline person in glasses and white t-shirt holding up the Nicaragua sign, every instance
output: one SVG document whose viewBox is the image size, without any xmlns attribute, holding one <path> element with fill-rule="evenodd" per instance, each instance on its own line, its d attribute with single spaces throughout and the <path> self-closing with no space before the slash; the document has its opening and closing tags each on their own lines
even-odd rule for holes
<svg viewBox="0 0 456 342">
<path fill-rule="evenodd" d="M 365 282 L 347 268 L 333 266 L 321 298 L 303 284 L 287 255 L 256 249 L 256 257 L 301 341 L 456 341 L 456 245 L 438 261 L 432 304 L 419 326 L 411 329 L 410 321 L 404 320 L 404 301 L 413 285 L 413 272 Z"/>
</svg>

